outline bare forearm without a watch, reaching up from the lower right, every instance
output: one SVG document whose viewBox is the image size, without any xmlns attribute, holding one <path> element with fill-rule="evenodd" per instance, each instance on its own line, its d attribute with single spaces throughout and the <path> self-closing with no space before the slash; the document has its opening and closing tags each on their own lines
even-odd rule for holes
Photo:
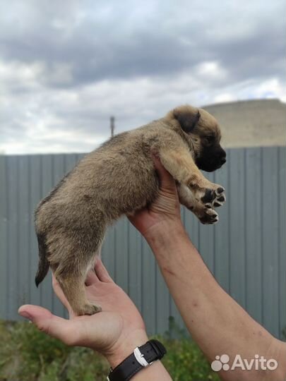
<svg viewBox="0 0 286 381">
<path fill-rule="evenodd" d="M 284 351 L 286 357 L 285 344 L 274 339 L 222 290 L 182 226 L 173 225 L 172 231 L 167 226 L 165 229 L 159 226 L 145 238 L 155 253 L 186 327 L 210 361 L 223 353 L 230 356 L 230 361 L 237 354 L 246 359 L 258 354 L 278 360 Z M 281 360 L 278 377 L 283 377 L 284 366 Z M 254 381 L 263 377 L 273 380 L 273 371 L 268 375 L 264 371 L 263 377 L 257 371 L 255 375 L 251 373 L 224 372 L 221 376 L 225 380 Z M 278 377 L 275 380 L 284 380 Z"/>
</svg>

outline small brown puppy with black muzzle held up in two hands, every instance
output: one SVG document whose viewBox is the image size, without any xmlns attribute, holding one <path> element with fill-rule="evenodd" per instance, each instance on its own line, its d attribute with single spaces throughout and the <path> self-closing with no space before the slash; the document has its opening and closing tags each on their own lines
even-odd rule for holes
<svg viewBox="0 0 286 381">
<path fill-rule="evenodd" d="M 217 121 L 203 109 L 181 106 L 136 130 L 114 136 L 86 155 L 37 206 L 38 285 L 52 268 L 76 315 L 97 313 L 85 296 L 85 276 L 100 253 L 109 224 L 157 197 L 151 152 L 177 181 L 180 202 L 201 222 L 213 224 L 224 189 L 199 169 L 225 163 Z"/>
</svg>

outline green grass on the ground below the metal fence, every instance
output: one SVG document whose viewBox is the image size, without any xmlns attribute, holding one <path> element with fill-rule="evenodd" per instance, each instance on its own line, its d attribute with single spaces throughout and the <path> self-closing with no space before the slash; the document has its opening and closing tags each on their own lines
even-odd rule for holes
<svg viewBox="0 0 286 381">
<path fill-rule="evenodd" d="M 167 348 L 163 363 L 173 380 L 220 380 L 198 346 L 172 326 L 159 339 Z M 179 337 L 174 339 L 172 337 Z M 28 322 L 0 321 L 1 381 L 103 381 L 105 358 L 90 349 L 68 347 Z"/>
</svg>

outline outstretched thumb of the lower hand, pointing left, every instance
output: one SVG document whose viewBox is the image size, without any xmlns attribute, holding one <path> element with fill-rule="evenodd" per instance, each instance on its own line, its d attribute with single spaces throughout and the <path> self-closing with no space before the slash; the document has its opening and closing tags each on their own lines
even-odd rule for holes
<svg viewBox="0 0 286 381">
<path fill-rule="evenodd" d="M 25 304 L 18 309 L 19 315 L 29 319 L 40 331 L 63 341 L 67 345 L 73 345 L 71 338 L 71 321 L 53 315 L 49 310 L 39 306 Z"/>
</svg>

